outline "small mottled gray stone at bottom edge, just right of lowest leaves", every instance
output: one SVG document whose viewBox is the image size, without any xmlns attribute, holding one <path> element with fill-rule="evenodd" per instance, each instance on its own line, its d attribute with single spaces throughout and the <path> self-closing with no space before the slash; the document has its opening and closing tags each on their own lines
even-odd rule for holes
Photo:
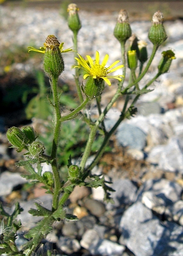
<svg viewBox="0 0 183 256">
<path fill-rule="evenodd" d="M 56 244 L 60 250 L 68 254 L 77 252 L 81 248 L 79 242 L 76 239 L 64 236 L 60 236 Z"/>
</svg>

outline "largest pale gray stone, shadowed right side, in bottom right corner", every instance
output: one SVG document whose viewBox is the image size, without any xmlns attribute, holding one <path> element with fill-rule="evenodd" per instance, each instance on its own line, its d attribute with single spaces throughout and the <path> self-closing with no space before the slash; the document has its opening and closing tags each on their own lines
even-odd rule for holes
<svg viewBox="0 0 183 256">
<path fill-rule="evenodd" d="M 137 202 L 123 214 L 120 244 L 136 256 L 178 256 L 183 254 L 183 228 L 175 223 L 163 225 L 142 203 Z"/>
</svg>

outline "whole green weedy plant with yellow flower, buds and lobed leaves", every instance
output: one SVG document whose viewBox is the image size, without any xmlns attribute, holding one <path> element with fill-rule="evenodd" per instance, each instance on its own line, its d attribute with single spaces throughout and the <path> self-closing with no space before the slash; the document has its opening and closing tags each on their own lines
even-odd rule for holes
<svg viewBox="0 0 183 256">
<path fill-rule="evenodd" d="M 33 47 L 28 47 L 30 51 L 42 52 L 43 68 L 45 73 L 50 78 L 51 91 L 53 100 L 49 100 L 54 110 L 53 115 L 53 140 L 51 155 L 44 153 L 45 146 L 39 141 L 36 131 L 32 126 L 25 126 L 22 128 L 11 127 L 7 131 L 7 138 L 17 152 L 23 152 L 26 157 L 25 161 L 16 163 L 17 166 L 24 166 L 28 175 L 23 175 L 29 182 L 40 182 L 44 184 L 47 193 L 52 195 L 52 209 L 46 209 L 43 204 L 35 203 L 36 209 L 30 209 L 29 213 L 33 216 L 42 216 L 42 219 L 37 222 L 36 226 L 29 229 L 24 234 L 27 243 L 18 249 L 16 245 L 17 231 L 21 227 L 20 220 L 16 219 L 17 215 L 23 210 L 19 203 L 15 205 L 13 213 L 7 213 L 3 206 L 0 207 L 0 212 L 4 215 L 1 223 L 1 255 L 34 255 L 36 248 L 41 244 L 42 239 L 51 232 L 53 223 L 60 220 L 77 220 L 77 217 L 68 214 L 64 209 L 64 204 L 72 193 L 75 186 L 87 186 L 97 188 L 102 186 L 105 192 L 105 200 L 110 200 L 110 191 L 113 191 L 108 186 L 105 177 L 92 175 L 92 168 L 99 163 L 99 160 L 104 153 L 109 138 L 115 132 L 119 124 L 125 119 L 135 115 L 137 108 L 135 103 L 141 94 L 148 93 L 151 90 L 148 87 L 162 74 L 168 72 L 172 59 L 175 59 L 175 54 L 171 50 L 162 52 L 162 58 L 157 65 L 157 74 L 150 79 L 146 84 L 140 85 L 140 80 L 147 73 L 158 47 L 166 40 L 167 35 L 163 26 L 163 14 L 158 11 L 153 15 L 152 26 L 149 29 L 148 38 L 153 44 L 153 49 L 150 57 L 147 57 L 147 43 L 139 41 L 136 36 L 131 37 L 131 27 L 128 21 L 128 14 L 125 10 L 121 10 L 114 28 L 114 36 L 121 45 L 121 63 L 117 65 L 120 60 L 116 60 L 110 66 L 107 66 L 109 55 L 106 54 L 104 59 L 100 62 L 99 52 L 96 51 L 94 60 L 91 56 L 86 55 L 86 59 L 78 53 L 77 35 L 81 29 L 81 22 L 78 15 L 78 7 L 76 4 L 69 4 L 68 6 L 68 27 L 73 32 L 74 49 L 63 50 L 63 44 L 59 43 L 54 35 L 49 35 L 46 38 L 43 47 L 37 50 Z M 125 50 L 126 41 L 132 38 L 128 50 Z M 60 110 L 58 93 L 58 79 L 64 72 L 64 59 L 62 55 L 65 52 L 74 52 L 74 68 L 75 68 L 75 82 L 80 104 L 76 109 L 68 114 L 64 114 Z M 127 59 L 127 62 L 126 62 Z M 146 64 L 145 64 L 146 63 Z M 130 72 L 130 79 L 128 84 L 124 86 L 127 67 Z M 119 75 L 112 76 L 114 71 L 118 70 Z M 82 72 L 81 72 L 82 71 Z M 102 91 L 105 86 L 111 86 L 111 78 L 118 80 L 118 86 L 111 95 L 110 102 L 101 107 Z M 107 85 L 106 85 L 107 84 Z M 118 100 L 120 96 L 125 98 L 121 115 L 118 117 L 116 123 L 107 131 L 105 127 L 105 116 L 109 109 Z M 99 116 L 96 120 L 92 120 L 91 116 L 84 111 L 86 105 L 95 100 L 98 108 Z M 76 116 L 82 116 L 83 121 L 89 125 L 88 141 L 85 146 L 84 153 L 81 156 L 78 165 L 72 164 L 71 157 L 68 159 L 68 180 L 63 181 L 60 175 L 60 166 L 58 165 L 58 143 L 60 132 L 62 129 L 62 122 L 71 120 Z M 96 134 L 103 136 L 103 141 L 96 152 L 94 159 L 89 165 L 86 165 L 87 159 L 91 154 L 92 144 L 95 141 Z M 51 165 L 52 172 L 42 173 L 42 163 Z M 34 164 L 34 165 L 33 165 Z M 35 164 L 37 168 L 35 170 Z M 33 167 L 34 166 L 34 167 Z M 47 251 L 47 255 L 52 255 L 51 251 Z"/>
</svg>

